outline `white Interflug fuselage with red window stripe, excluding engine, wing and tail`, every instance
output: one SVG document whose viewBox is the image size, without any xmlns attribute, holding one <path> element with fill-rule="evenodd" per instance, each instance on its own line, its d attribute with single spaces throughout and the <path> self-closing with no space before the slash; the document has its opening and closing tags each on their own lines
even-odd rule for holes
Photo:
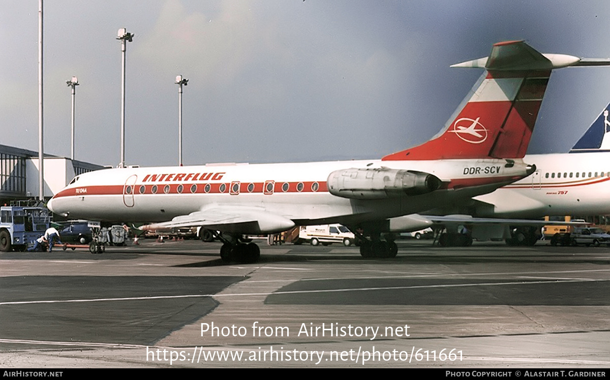
<svg viewBox="0 0 610 380">
<path fill-rule="evenodd" d="M 389 199 L 349 199 L 328 192 L 331 172 L 391 167 L 422 171 L 443 181 L 439 190 Z M 70 218 L 169 221 L 206 207 L 260 207 L 296 224 L 358 223 L 420 212 L 490 192 L 526 176 L 515 160 L 354 160 L 313 163 L 224 164 L 193 167 L 117 168 L 81 174 L 49 201 Z"/>
</svg>

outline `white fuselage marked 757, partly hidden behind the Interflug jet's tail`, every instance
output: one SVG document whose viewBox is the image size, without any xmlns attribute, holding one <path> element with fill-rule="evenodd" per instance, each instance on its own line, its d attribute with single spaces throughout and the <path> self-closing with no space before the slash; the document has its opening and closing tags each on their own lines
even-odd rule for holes
<svg viewBox="0 0 610 380">
<path fill-rule="evenodd" d="M 475 199 L 493 205 L 481 217 L 610 214 L 610 152 L 531 154 L 536 172 Z"/>
</svg>

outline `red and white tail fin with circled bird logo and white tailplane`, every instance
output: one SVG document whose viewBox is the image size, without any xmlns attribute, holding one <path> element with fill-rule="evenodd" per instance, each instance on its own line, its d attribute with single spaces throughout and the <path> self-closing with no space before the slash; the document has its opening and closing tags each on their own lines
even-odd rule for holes
<svg viewBox="0 0 610 380">
<path fill-rule="evenodd" d="M 610 60 L 542 54 L 524 41 L 496 43 L 489 57 L 452 66 L 487 71 L 445 128 L 428 142 L 383 160 L 523 158 L 551 71 L 575 65 L 610 65 Z"/>
</svg>

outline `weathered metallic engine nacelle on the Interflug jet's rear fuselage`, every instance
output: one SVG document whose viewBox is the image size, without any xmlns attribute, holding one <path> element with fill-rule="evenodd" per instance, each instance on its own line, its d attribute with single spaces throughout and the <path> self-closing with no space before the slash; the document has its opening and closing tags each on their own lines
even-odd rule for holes
<svg viewBox="0 0 610 380">
<path fill-rule="evenodd" d="M 350 168 L 333 171 L 326 181 L 332 195 L 352 199 L 386 199 L 433 192 L 442 184 L 422 171 Z"/>
</svg>

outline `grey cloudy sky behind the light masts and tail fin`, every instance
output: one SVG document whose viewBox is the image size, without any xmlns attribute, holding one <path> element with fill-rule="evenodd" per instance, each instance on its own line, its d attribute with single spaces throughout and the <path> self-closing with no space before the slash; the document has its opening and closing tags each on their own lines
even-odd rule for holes
<svg viewBox="0 0 610 380">
<path fill-rule="evenodd" d="M 0 2 L 0 143 L 38 149 L 38 1 Z M 45 151 L 120 161 L 120 42 L 127 46 L 126 161 L 378 158 L 436 134 L 478 76 L 453 63 L 524 39 L 541 52 L 610 57 L 608 1 L 45 2 Z M 551 76 L 530 153 L 565 152 L 610 101 L 610 68 Z"/>
</svg>

